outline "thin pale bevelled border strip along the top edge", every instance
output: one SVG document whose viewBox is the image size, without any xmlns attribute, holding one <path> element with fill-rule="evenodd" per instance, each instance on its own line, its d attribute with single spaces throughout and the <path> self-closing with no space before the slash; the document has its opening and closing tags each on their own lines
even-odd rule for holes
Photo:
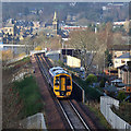
<svg viewBox="0 0 131 131">
<path fill-rule="evenodd" d="M 131 0 L 0 0 L 2 2 L 130 2 Z"/>
</svg>

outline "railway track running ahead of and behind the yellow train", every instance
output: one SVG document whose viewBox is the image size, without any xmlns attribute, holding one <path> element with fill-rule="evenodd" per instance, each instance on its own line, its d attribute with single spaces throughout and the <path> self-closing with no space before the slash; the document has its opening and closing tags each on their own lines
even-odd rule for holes
<svg viewBox="0 0 131 131">
<path fill-rule="evenodd" d="M 47 60 L 47 58 L 45 58 L 44 55 L 36 55 L 36 58 L 43 75 L 46 78 L 47 82 L 50 83 L 50 78 L 48 74 L 48 70 L 50 68 L 50 64 L 48 64 L 49 61 Z M 71 130 L 91 131 L 88 126 L 86 124 L 86 122 L 84 121 L 84 119 L 82 118 L 78 109 L 73 106 L 70 99 L 56 98 L 56 102 L 58 103 L 59 108 L 61 109 Z"/>
</svg>

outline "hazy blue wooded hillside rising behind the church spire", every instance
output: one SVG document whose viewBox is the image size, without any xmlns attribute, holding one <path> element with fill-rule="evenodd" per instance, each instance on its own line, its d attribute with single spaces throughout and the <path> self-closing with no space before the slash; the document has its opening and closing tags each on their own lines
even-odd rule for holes
<svg viewBox="0 0 131 131">
<path fill-rule="evenodd" d="M 74 15 L 76 20 L 86 19 L 90 22 L 122 21 L 128 17 L 128 3 L 107 2 L 3 2 L 2 17 L 3 21 L 12 17 L 48 22 L 57 11 L 59 21 L 66 21 L 68 14 Z M 40 14 L 39 10 L 43 11 Z M 31 14 L 31 11 L 37 13 Z"/>
</svg>

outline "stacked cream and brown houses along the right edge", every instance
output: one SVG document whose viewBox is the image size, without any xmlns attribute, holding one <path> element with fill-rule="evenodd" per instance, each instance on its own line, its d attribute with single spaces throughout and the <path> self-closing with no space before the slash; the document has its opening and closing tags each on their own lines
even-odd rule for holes
<svg viewBox="0 0 131 131">
<path fill-rule="evenodd" d="M 114 45 L 109 50 L 118 79 L 122 80 L 126 92 L 131 93 L 131 45 Z"/>
</svg>

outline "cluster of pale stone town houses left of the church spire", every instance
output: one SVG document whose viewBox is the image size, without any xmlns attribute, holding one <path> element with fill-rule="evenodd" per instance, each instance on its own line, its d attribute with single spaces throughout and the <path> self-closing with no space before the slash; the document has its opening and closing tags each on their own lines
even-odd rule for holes
<svg viewBox="0 0 131 131">
<path fill-rule="evenodd" d="M 10 19 L 4 22 L 3 27 L 0 28 L 0 37 L 2 37 L 3 44 L 14 44 L 26 37 L 36 35 L 36 31 L 39 26 L 39 22 L 15 21 Z"/>
</svg>

